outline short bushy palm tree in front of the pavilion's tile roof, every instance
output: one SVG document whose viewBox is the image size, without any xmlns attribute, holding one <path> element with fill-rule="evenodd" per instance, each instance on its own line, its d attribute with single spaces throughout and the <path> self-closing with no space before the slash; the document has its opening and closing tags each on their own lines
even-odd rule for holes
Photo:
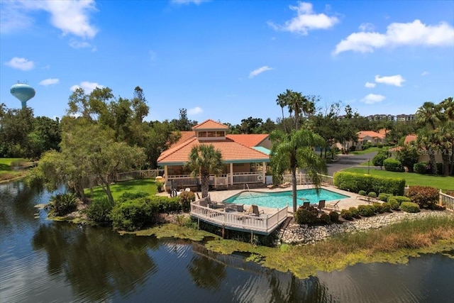
<svg viewBox="0 0 454 303">
<path fill-rule="evenodd" d="M 215 150 L 212 144 L 197 145 L 191 149 L 189 160 L 184 165 L 185 169 L 191 170 L 191 175 L 200 176 L 201 197 L 208 196 L 210 175 L 219 174 L 223 170 L 222 155 L 219 150 Z"/>
</svg>

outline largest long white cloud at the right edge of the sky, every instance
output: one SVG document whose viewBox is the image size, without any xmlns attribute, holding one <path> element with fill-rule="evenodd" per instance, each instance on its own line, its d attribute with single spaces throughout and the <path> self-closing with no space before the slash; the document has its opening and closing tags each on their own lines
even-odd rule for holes
<svg viewBox="0 0 454 303">
<path fill-rule="evenodd" d="M 436 26 L 426 26 L 417 19 L 411 23 L 391 23 L 387 27 L 386 33 L 360 32 L 350 34 L 336 45 L 333 55 L 348 50 L 372 53 L 375 48 L 402 45 L 454 45 L 454 28 L 445 22 Z"/>
</svg>

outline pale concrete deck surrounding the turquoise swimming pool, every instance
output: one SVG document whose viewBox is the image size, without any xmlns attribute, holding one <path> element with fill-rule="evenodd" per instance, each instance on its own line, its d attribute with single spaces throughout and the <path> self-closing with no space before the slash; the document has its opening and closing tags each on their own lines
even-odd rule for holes
<svg viewBox="0 0 454 303">
<path fill-rule="evenodd" d="M 297 189 L 313 189 L 314 186 L 312 185 L 297 185 Z M 353 192 L 346 192 L 345 190 L 338 189 L 336 187 L 332 186 L 322 186 L 322 189 L 327 189 L 330 190 L 331 192 L 337 192 L 338 194 L 343 194 L 345 196 L 348 196 L 348 198 L 341 199 L 341 201 L 338 203 L 338 211 L 341 211 L 342 209 L 349 209 L 350 207 L 358 207 L 358 205 L 361 204 L 368 204 L 367 201 L 358 199 L 360 197 L 358 194 L 355 194 Z M 217 202 L 222 202 L 225 199 L 228 199 L 229 197 L 232 197 L 240 192 L 248 192 L 248 189 L 235 189 L 235 190 L 219 190 L 219 191 L 211 191 L 209 192 L 211 200 L 212 201 L 217 201 Z M 260 188 L 260 189 L 250 189 L 250 192 L 292 192 L 292 187 L 287 187 L 287 188 L 273 188 L 273 189 L 267 189 L 267 188 Z M 339 199 L 331 200 L 331 201 L 326 201 L 326 204 L 328 204 L 327 208 L 329 209 L 329 205 L 334 204 L 338 202 Z M 302 203 L 298 203 L 302 204 Z M 293 214 L 293 209 L 292 209 L 292 204 L 289 204 L 289 213 Z"/>
</svg>

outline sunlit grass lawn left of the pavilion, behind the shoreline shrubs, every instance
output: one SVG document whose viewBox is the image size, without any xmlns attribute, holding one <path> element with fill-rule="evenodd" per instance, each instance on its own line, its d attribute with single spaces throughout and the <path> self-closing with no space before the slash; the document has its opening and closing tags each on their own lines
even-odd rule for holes
<svg viewBox="0 0 454 303">
<path fill-rule="evenodd" d="M 138 179 L 111 184 L 111 192 L 114 200 L 120 197 L 123 192 L 146 192 L 150 196 L 153 196 L 157 193 L 157 187 L 154 178 Z M 90 192 L 90 189 L 85 189 L 85 194 L 92 199 L 106 196 L 106 192 L 100 186 L 93 188 L 93 194 Z"/>
</svg>

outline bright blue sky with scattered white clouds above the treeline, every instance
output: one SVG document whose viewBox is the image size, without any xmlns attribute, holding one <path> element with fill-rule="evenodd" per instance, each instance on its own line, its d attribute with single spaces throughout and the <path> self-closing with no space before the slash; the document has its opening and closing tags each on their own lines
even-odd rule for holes
<svg viewBox="0 0 454 303">
<path fill-rule="evenodd" d="M 360 114 L 454 96 L 454 1 L 0 1 L 0 103 L 36 90 L 62 116 L 74 87 L 133 97 L 147 120 L 281 116 L 292 89 Z M 343 113 L 341 113 L 343 114 Z"/>
</svg>

